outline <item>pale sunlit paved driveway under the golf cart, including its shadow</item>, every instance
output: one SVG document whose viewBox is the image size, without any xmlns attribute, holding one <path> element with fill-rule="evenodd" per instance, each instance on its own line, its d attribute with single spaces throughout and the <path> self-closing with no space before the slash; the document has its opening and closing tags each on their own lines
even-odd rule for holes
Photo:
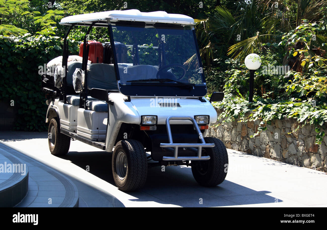
<svg viewBox="0 0 327 230">
<path fill-rule="evenodd" d="M 235 150 L 228 150 L 228 174 L 220 186 L 199 186 L 190 167 L 171 166 L 164 172 L 153 167 L 144 188 L 122 192 L 114 186 L 110 153 L 72 141 L 69 153 L 56 157 L 50 154 L 46 132 L 1 132 L 0 140 L 73 178 L 88 206 L 100 206 L 101 199 L 119 205 L 116 197 L 127 207 L 327 207 L 326 173 Z"/>
</svg>

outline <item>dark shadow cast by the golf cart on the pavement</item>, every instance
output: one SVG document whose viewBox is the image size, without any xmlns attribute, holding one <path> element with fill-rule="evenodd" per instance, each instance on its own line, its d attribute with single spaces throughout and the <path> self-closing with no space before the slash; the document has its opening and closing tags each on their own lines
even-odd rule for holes
<svg viewBox="0 0 327 230">
<path fill-rule="evenodd" d="M 115 186 L 112 178 L 112 153 L 105 151 L 70 151 L 62 159 L 82 169 L 89 166 L 90 173 Z M 146 185 L 135 192 L 125 192 L 135 202 L 157 202 L 182 207 L 214 207 L 240 204 L 283 202 L 266 195 L 269 191 L 255 191 L 225 180 L 219 186 L 203 187 L 194 180 L 191 167 L 170 166 L 148 169 Z"/>
</svg>

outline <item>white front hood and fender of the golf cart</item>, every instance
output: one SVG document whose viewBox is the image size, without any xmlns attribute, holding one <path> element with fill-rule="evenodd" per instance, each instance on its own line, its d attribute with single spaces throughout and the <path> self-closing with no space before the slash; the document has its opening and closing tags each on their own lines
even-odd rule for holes
<svg viewBox="0 0 327 230">
<path fill-rule="evenodd" d="M 198 98 L 161 98 L 161 97 L 131 97 L 130 102 L 125 102 L 120 93 L 110 93 L 109 123 L 107 127 L 106 151 L 111 152 L 114 147 L 116 136 L 122 123 L 140 124 L 142 115 L 157 115 L 158 124 L 166 124 L 168 116 L 192 116 L 209 115 L 210 123 L 215 123 L 217 113 L 215 108 L 207 100 L 201 102 Z M 160 102 L 179 103 L 181 107 L 160 107 Z M 171 120 L 170 124 L 192 124 L 189 120 Z M 207 130 L 204 136 L 207 134 Z"/>
</svg>

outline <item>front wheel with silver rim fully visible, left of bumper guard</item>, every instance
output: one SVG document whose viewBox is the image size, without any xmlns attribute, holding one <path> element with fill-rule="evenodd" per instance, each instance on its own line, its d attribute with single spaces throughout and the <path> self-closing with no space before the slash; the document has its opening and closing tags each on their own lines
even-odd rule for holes
<svg viewBox="0 0 327 230">
<path fill-rule="evenodd" d="M 134 191 L 144 186 L 147 158 L 141 142 L 125 139 L 116 144 L 112 154 L 112 175 L 122 191 Z"/>
</svg>

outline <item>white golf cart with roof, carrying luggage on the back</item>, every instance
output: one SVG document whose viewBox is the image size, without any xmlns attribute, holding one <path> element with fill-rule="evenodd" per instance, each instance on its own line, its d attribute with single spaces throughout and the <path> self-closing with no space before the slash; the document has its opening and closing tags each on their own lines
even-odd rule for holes
<svg viewBox="0 0 327 230">
<path fill-rule="evenodd" d="M 152 166 L 191 166 L 202 186 L 224 181 L 226 147 L 206 137 L 217 120 L 211 102 L 224 94 L 204 97 L 194 19 L 131 9 L 69 16 L 60 24 L 70 26 L 63 56 L 42 77 L 53 155 L 66 154 L 71 140 L 112 152 L 113 178 L 123 191 L 142 187 Z M 79 56 L 69 56 L 75 26 L 88 30 Z M 108 28 L 110 42 L 87 41 L 93 27 Z"/>
</svg>

